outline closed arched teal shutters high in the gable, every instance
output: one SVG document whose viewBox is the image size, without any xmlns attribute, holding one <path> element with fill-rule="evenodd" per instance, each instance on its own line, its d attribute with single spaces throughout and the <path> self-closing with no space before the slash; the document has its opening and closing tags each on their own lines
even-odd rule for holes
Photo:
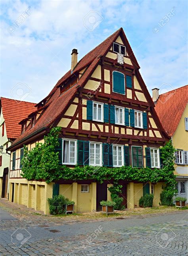
<svg viewBox="0 0 188 256">
<path fill-rule="evenodd" d="M 125 76 L 123 73 L 113 71 L 113 92 L 125 94 Z"/>
</svg>

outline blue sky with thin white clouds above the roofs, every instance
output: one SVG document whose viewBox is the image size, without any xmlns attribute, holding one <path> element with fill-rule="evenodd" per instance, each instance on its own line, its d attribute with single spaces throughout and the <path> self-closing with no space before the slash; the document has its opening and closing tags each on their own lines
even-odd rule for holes
<svg viewBox="0 0 188 256">
<path fill-rule="evenodd" d="M 187 84 L 187 1 L 1 0 L 1 96 L 39 102 L 71 67 L 123 27 L 148 87 Z M 85 25 L 85 26 L 84 26 Z"/>
</svg>

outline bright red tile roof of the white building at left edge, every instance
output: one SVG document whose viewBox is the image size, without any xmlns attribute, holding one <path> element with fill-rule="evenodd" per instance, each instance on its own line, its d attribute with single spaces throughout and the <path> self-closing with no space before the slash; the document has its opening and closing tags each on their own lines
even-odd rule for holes
<svg viewBox="0 0 188 256">
<path fill-rule="evenodd" d="M 7 137 L 16 139 L 21 134 L 19 122 L 36 110 L 35 103 L 1 97 L 1 105 Z"/>
</svg>

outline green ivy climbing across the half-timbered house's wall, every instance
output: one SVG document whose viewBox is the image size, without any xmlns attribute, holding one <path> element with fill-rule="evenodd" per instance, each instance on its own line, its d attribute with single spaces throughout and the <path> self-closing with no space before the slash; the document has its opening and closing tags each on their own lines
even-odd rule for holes
<svg viewBox="0 0 188 256">
<path fill-rule="evenodd" d="M 24 156 L 22 159 L 22 177 L 28 180 L 44 180 L 46 183 L 64 180 L 85 180 L 93 179 L 100 183 L 105 180 L 112 180 L 118 184 L 120 180 L 139 182 L 159 182 L 166 183 L 165 189 L 175 192 L 174 175 L 174 152 L 172 142 L 169 141 L 161 148 L 161 158 L 163 164 L 161 169 L 157 168 L 137 168 L 131 166 L 122 167 L 94 167 L 94 166 L 61 166 L 58 164 L 58 137 L 61 127 L 52 128 L 50 133 L 44 137 L 44 143 L 37 143 L 36 147 L 28 151 L 24 146 Z M 120 187 L 117 187 L 119 190 Z M 119 191 L 117 191 L 119 192 Z M 114 192 L 115 194 L 115 192 Z M 117 194 L 117 193 L 116 193 Z"/>
</svg>

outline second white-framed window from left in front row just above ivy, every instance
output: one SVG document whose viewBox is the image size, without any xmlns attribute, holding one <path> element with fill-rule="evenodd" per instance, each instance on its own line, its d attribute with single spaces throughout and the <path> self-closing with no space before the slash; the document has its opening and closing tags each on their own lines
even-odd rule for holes
<svg viewBox="0 0 188 256">
<path fill-rule="evenodd" d="M 89 160 L 91 166 L 102 166 L 102 143 L 90 142 Z"/>
</svg>

